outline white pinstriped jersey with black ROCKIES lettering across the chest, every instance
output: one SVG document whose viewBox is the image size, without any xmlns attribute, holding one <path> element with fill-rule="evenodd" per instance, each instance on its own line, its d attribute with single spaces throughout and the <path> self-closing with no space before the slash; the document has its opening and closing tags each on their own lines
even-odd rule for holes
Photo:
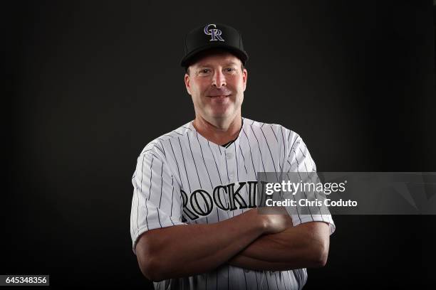
<svg viewBox="0 0 436 290">
<path fill-rule="evenodd" d="M 133 174 L 130 234 L 133 251 L 147 230 L 208 224 L 256 207 L 257 172 L 311 172 L 315 163 L 301 137 L 277 124 L 243 118 L 227 148 L 198 134 L 189 122 L 151 141 Z M 294 225 L 328 222 L 331 215 L 292 215 Z M 155 283 L 155 289 L 301 289 L 306 269 L 252 271 L 223 265 L 213 272 Z"/>
</svg>

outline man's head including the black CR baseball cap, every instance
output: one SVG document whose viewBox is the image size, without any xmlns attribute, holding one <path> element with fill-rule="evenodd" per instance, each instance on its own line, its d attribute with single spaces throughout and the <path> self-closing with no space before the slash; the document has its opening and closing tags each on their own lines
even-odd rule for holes
<svg viewBox="0 0 436 290">
<path fill-rule="evenodd" d="M 241 115 L 248 55 L 236 29 L 207 24 L 185 38 L 185 85 L 192 96 L 196 117 L 211 124 Z"/>
</svg>

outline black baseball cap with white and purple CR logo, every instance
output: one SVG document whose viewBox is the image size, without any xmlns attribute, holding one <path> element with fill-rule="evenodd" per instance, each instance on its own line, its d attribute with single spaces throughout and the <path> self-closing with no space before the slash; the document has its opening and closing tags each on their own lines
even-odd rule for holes
<svg viewBox="0 0 436 290">
<path fill-rule="evenodd" d="M 228 50 L 237 56 L 243 65 L 248 60 L 248 54 L 246 54 L 244 45 L 242 45 L 242 37 L 239 31 L 225 24 L 210 23 L 187 33 L 185 56 L 182 58 L 180 65 L 187 68 L 199 53 L 212 48 Z"/>
</svg>

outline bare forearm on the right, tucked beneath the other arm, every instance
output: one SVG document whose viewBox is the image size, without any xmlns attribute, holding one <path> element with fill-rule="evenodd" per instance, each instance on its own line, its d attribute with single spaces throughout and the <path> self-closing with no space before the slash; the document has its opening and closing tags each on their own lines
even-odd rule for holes
<svg viewBox="0 0 436 290">
<path fill-rule="evenodd" d="M 285 270 L 322 267 L 326 264 L 329 228 L 308 222 L 284 232 L 264 235 L 233 257 L 229 264 L 246 269 Z"/>
</svg>

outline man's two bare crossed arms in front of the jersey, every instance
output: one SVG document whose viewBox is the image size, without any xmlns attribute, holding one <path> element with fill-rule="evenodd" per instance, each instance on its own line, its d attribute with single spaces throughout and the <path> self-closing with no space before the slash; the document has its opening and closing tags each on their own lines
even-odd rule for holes
<svg viewBox="0 0 436 290">
<path fill-rule="evenodd" d="M 297 226 L 286 213 L 256 209 L 209 225 L 175 225 L 142 234 L 136 245 L 142 274 L 152 281 L 212 271 L 224 263 L 254 270 L 323 267 L 330 229 L 325 222 Z"/>
</svg>

